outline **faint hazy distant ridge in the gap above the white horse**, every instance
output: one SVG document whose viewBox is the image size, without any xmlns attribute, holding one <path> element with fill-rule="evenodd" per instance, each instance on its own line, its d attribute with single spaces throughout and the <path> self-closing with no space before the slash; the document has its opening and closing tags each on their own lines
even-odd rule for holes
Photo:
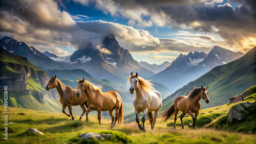
<svg viewBox="0 0 256 144">
<path fill-rule="evenodd" d="M 143 67 L 145 67 L 148 70 L 151 70 L 153 73 L 157 74 L 160 71 L 163 71 L 166 67 L 170 66 L 171 63 L 165 61 L 164 63 L 158 65 L 158 64 L 149 64 L 146 61 L 140 61 L 139 64 Z"/>
</svg>

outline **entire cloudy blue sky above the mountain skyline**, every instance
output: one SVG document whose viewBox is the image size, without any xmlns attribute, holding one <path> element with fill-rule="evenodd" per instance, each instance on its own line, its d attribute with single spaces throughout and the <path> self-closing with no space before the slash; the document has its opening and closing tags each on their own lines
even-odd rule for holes
<svg viewBox="0 0 256 144">
<path fill-rule="evenodd" d="M 254 4 L 250 0 L 14 0 L 2 2 L 0 34 L 58 56 L 71 55 L 89 42 L 96 47 L 114 34 L 137 61 L 161 64 L 180 53 L 208 53 L 214 45 L 246 53 L 256 40 Z"/>
</svg>

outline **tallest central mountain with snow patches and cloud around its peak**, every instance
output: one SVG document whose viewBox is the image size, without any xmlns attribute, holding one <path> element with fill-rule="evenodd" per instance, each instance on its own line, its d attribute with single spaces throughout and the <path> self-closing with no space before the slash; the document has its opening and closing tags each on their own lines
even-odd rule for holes
<svg viewBox="0 0 256 144">
<path fill-rule="evenodd" d="M 51 58 L 74 68 L 84 69 L 96 79 L 107 79 L 121 85 L 125 84 L 132 71 L 144 78 L 155 75 L 142 67 L 128 50 L 123 49 L 114 35 L 105 37 L 102 46 L 93 47 L 89 44 L 71 56 Z"/>
</svg>

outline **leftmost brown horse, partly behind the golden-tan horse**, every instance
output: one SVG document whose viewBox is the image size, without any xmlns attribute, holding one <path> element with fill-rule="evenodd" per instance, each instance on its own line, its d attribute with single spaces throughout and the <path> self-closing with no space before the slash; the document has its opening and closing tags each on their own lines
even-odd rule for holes
<svg viewBox="0 0 256 144">
<path fill-rule="evenodd" d="M 77 98 L 76 97 L 76 90 L 72 89 L 69 86 L 66 86 L 65 84 L 63 84 L 60 80 L 58 80 L 55 77 L 52 76 L 52 79 L 49 81 L 48 85 L 46 86 L 46 90 L 50 90 L 52 88 L 57 88 L 57 91 L 59 92 L 60 95 L 60 103 L 62 104 L 62 112 L 67 114 L 68 116 L 72 116 L 72 120 L 75 120 L 75 117 L 73 116 L 72 113 L 72 107 L 71 106 L 78 106 L 80 105 L 80 107 L 82 108 L 82 114 L 80 116 L 80 119 L 82 119 L 82 116 L 84 115 L 84 113 L 86 113 L 86 108 L 84 107 L 84 104 L 86 104 L 87 98 L 86 98 L 86 94 L 82 94 L 81 98 Z M 70 114 L 68 114 L 66 112 L 66 107 L 68 106 L 69 108 L 69 112 Z"/>
</svg>

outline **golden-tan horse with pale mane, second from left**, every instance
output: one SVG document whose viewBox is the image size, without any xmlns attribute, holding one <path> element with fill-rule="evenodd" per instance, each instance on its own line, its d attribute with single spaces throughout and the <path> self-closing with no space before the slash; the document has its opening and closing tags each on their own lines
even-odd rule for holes
<svg viewBox="0 0 256 144">
<path fill-rule="evenodd" d="M 115 91 L 102 92 L 99 88 L 96 88 L 92 83 L 84 80 L 78 79 L 78 88 L 76 91 L 76 96 L 84 92 L 87 95 L 87 105 L 88 109 L 86 111 L 86 121 L 88 121 L 89 112 L 95 110 L 98 112 L 98 120 L 100 125 L 100 114 L 101 111 L 109 111 L 112 118 L 111 128 L 113 128 L 113 123 L 115 119 L 114 126 L 118 119 L 118 124 L 123 123 L 123 102 L 120 95 Z M 116 117 L 114 117 L 113 111 L 116 110 Z"/>
</svg>

